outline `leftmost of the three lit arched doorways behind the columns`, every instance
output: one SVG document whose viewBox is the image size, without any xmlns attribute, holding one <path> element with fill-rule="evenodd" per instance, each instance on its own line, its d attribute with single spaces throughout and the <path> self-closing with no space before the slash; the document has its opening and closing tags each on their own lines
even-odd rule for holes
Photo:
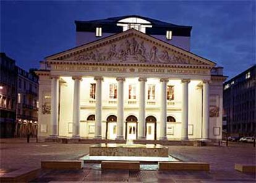
<svg viewBox="0 0 256 183">
<path fill-rule="evenodd" d="M 106 119 L 106 139 L 116 139 L 116 121 L 117 117 L 110 115 Z"/>
</svg>

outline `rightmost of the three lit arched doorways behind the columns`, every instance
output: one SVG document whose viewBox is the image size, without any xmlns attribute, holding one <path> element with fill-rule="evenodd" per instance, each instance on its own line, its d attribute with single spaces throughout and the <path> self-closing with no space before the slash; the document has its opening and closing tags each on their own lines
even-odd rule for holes
<svg viewBox="0 0 256 183">
<path fill-rule="evenodd" d="M 146 117 L 146 139 L 156 140 L 156 118 L 154 116 Z"/>
</svg>

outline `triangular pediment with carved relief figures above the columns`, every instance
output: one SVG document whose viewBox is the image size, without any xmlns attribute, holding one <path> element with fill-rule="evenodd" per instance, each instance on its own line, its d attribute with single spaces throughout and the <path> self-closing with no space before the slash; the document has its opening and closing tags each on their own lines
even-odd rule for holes
<svg viewBox="0 0 256 183">
<path fill-rule="evenodd" d="M 108 36 L 46 57 L 46 60 L 215 66 L 214 62 L 137 30 L 127 30 L 126 32 Z"/>
</svg>

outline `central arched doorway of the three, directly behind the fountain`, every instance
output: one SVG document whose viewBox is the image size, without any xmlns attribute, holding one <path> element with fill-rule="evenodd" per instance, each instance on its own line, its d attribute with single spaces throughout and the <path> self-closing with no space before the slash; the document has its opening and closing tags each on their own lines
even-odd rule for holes
<svg viewBox="0 0 256 183">
<path fill-rule="evenodd" d="M 130 115 L 126 117 L 126 139 L 135 140 L 138 138 L 138 119 L 137 117 Z"/>
</svg>

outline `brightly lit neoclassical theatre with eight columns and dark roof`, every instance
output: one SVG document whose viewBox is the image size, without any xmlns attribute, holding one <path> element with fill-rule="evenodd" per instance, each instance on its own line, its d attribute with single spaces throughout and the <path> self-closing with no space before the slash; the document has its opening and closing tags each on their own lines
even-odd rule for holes
<svg viewBox="0 0 256 183">
<path fill-rule="evenodd" d="M 40 62 L 40 138 L 221 138 L 223 67 L 192 27 L 137 15 L 75 21 L 77 46 Z"/>
</svg>

